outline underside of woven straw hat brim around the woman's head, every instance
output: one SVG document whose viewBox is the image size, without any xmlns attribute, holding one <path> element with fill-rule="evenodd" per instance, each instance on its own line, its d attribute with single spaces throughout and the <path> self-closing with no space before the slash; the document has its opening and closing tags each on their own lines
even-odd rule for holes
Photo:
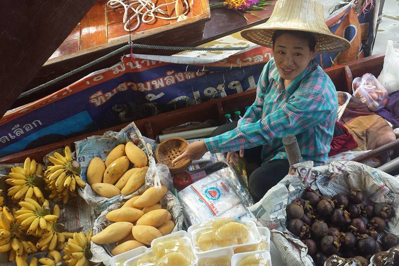
<svg viewBox="0 0 399 266">
<path fill-rule="evenodd" d="M 283 31 L 301 31 L 301 32 L 309 32 L 314 33 L 316 35 L 316 53 L 317 54 L 325 54 L 325 53 L 336 53 L 347 50 L 351 47 L 351 43 L 339 36 L 336 36 L 332 33 L 316 33 L 313 31 L 306 31 L 304 29 L 295 29 L 295 28 L 255 28 L 248 29 L 241 32 L 241 36 L 245 39 L 262 45 L 269 48 L 273 48 L 273 33 L 275 30 L 283 30 Z"/>
</svg>

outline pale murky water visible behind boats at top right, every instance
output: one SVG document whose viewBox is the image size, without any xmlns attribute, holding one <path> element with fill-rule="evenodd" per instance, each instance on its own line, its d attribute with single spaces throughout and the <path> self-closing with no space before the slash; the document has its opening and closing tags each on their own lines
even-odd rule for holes
<svg viewBox="0 0 399 266">
<path fill-rule="evenodd" d="M 339 0 L 318 0 L 324 5 L 324 15 Z M 373 54 L 385 53 L 387 40 L 394 41 L 394 47 L 399 48 L 399 0 L 385 0 L 381 24 L 378 27 Z"/>
</svg>

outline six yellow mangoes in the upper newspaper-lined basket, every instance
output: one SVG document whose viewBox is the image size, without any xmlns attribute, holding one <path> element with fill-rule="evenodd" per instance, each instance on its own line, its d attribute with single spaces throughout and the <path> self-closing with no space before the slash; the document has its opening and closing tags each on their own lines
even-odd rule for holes
<svg viewBox="0 0 399 266">
<path fill-rule="evenodd" d="M 129 169 L 130 163 L 135 167 Z M 147 164 L 147 155 L 133 142 L 120 144 L 109 152 L 105 162 L 99 157 L 90 161 L 87 182 L 101 197 L 130 195 L 144 184 Z"/>
</svg>

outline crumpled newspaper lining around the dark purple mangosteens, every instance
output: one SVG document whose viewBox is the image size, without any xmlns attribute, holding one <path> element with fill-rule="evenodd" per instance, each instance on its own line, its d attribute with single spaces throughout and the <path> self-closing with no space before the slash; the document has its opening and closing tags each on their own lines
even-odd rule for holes
<svg viewBox="0 0 399 266">
<path fill-rule="evenodd" d="M 273 253 L 278 253 L 273 265 L 275 262 L 276 265 L 313 265 L 311 257 L 306 255 L 307 247 L 285 226 L 287 204 L 300 197 L 306 187 L 328 196 L 347 194 L 351 188 L 358 188 L 367 193 L 366 203 L 367 200 L 387 202 L 394 209 L 399 204 L 399 180 L 378 169 L 352 161 L 336 161 L 317 167 L 310 161 L 296 164 L 263 199 L 248 207 L 271 231 L 271 241 L 276 247 Z M 388 233 L 399 234 L 399 213 L 396 212 L 387 224 Z"/>
</svg>

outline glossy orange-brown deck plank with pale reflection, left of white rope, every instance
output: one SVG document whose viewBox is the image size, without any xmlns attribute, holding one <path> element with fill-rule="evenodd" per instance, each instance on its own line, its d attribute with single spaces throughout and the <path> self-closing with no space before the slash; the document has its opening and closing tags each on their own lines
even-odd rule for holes
<svg viewBox="0 0 399 266">
<path fill-rule="evenodd" d="M 105 19 L 105 2 L 97 1 L 83 17 L 80 49 L 88 49 L 108 42 Z"/>
</svg>

